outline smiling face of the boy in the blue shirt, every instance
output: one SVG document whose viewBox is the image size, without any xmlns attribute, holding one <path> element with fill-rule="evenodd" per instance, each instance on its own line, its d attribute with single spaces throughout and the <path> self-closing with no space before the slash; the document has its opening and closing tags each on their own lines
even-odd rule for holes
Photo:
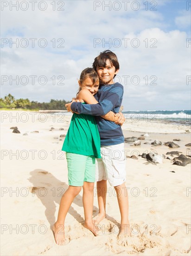
<svg viewBox="0 0 191 256">
<path fill-rule="evenodd" d="M 97 74 L 104 84 L 113 84 L 114 76 L 118 73 L 119 69 L 115 70 L 115 67 L 111 65 L 109 60 L 106 61 L 106 67 L 97 67 Z"/>
</svg>

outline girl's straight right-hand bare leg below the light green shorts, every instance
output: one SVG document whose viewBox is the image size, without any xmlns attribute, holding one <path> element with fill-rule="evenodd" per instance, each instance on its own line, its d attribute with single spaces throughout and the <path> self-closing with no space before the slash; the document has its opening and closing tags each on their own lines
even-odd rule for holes
<svg viewBox="0 0 191 256">
<path fill-rule="evenodd" d="M 95 236 L 97 235 L 98 229 L 95 227 L 92 221 L 93 213 L 93 202 L 94 202 L 94 182 L 83 183 L 83 208 L 85 223 L 84 227 L 89 229 Z"/>
</svg>

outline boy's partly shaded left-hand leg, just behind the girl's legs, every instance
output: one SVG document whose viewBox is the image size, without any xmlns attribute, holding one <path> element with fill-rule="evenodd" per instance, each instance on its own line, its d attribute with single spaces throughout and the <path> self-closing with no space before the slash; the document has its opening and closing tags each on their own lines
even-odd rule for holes
<svg viewBox="0 0 191 256">
<path fill-rule="evenodd" d="M 95 224 L 101 222 L 106 216 L 106 193 L 107 191 L 107 180 L 97 182 L 97 200 L 99 205 L 99 214 L 96 216 L 94 221 Z"/>
</svg>

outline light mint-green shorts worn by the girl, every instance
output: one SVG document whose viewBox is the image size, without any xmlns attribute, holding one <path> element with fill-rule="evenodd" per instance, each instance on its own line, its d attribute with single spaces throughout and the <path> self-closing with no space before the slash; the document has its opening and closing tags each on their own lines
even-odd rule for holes
<svg viewBox="0 0 191 256">
<path fill-rule="evenodd" d="M 83 182 L 95 182 L 96 158 L 66 152 L 68 182 L 70 186 L 83 186 Z"/>
</svg>

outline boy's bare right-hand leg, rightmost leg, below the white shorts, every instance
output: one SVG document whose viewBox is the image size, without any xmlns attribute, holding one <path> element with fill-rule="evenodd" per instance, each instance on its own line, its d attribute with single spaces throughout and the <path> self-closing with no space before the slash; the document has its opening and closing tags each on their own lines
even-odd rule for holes
<svg viewBox="0 0 191 256">
<path fill-rule="evenodd" d="M 121 214 L 121 229 L 118 237 L 120 238 L 124 235 L 130 236 L 130 226 L 128 220 L 128 194 L 125 183 L 119 186 L 115 186 L 114 188 L 117 195 L 117 201 Z"/>
</svg>

